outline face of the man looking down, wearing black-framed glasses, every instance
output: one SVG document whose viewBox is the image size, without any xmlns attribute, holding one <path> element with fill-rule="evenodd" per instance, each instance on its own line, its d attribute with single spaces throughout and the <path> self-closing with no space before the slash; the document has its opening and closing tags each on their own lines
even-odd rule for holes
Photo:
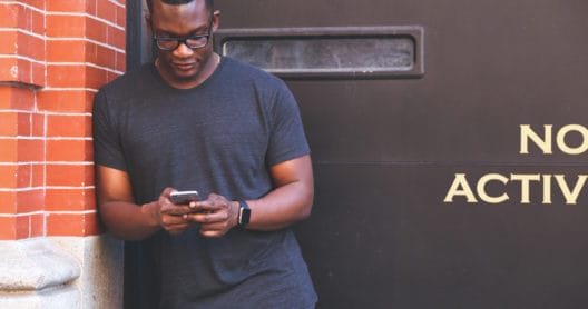
<svg viewBox="0 0 588 309">
<path fill-rule="evenodd" d="M 218 16 L 213 14 L 204 0 L 186 4 L 166 4 L 154 0 L 150 19 L 154 36 L 159 38 L 185 38 L 213 33 L 218 24 Z M 212 28 L 212 29 L 210 29 Z M 199 84 L 214 71 L 216 63 L 213 56 L 212 36 L 208 43 L 192 49 L 180 43 L 176 49 L 159 50 L 158 70 L 161 77 L 173 87 L 190 88 Z"/>
</svg>

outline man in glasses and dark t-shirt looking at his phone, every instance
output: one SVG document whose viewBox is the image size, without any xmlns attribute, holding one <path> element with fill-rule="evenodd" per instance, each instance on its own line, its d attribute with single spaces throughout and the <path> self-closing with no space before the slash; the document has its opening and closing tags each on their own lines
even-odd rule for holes
<svg viewBox="0 0 588 309">
<path fill-rule="evenodd" d="M 94 106 L 100 217 L 135 246 L 140 308 L 314 308 L 288 228 L 312 208 L 310 149 L 285 84 L 213 51 L 212 0 L 153 0 L 154 63 Z M 200 200 L 174 205 L 175 190 Z"/>
</svg>

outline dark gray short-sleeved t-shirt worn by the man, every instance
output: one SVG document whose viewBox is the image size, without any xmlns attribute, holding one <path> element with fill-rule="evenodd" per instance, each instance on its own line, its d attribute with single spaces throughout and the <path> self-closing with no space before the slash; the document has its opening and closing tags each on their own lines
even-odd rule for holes
<svg viewBox="0 0 588 309">
<path fill-rule="evenodd" d="M 268 167 L 310 152 L 296 102 L 277 78 L 223 58 L 203 84 L 174 89 L 153 63 L 104 87 L 94 106 L 95 161 L 127 171 L 138 205 L 166 187 L 229 200 L 272 190 Z M 291 229 L 196 227 L 133 243 L 127 287 L 160 308 L 310 308 L 316 295 Z"/>
</svg>

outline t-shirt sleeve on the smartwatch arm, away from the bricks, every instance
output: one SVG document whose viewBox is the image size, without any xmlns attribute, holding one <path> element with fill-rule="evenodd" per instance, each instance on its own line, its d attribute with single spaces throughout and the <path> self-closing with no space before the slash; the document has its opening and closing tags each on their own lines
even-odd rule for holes
<svg viewBox="0 0 588 309">
<path fill-rule="evenodd" d="M 294 96 L 282 83 L 272 110 L 272 131 L 266 163 L 274 166 L 311 152 L 298 106 Z"/>
</svg>

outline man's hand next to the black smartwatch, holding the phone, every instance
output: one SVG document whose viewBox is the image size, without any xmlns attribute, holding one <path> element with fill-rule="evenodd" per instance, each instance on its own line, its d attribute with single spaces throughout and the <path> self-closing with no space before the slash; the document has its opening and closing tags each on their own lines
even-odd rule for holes
<svg viewBox="0 0 588 309">
<path fill-rule="evenodd" d="M 239 205 L 223 196 L 210 193 L 206 200 L 193 201 L 189 207 L 192 213 L 184 215 L 184 219 L 199 223 L 204 237 L 223 237 L 237 225 Z"/>
</svg>

